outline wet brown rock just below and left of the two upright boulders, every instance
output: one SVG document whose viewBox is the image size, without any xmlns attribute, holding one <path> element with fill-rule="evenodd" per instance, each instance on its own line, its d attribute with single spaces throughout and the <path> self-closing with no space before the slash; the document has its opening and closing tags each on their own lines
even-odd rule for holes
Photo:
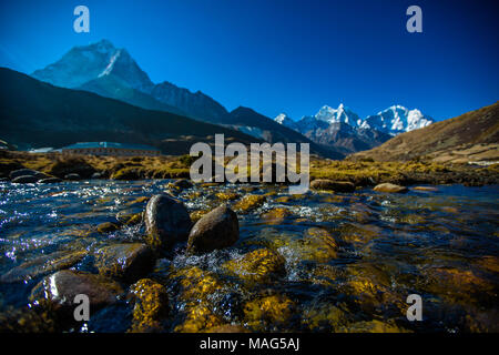
<svg viewBox="0 0 499 355">
<path fill-rule="evenodd" d="M 95 253 L 95 266 L 101 275 L 128 283 L 151 272 L 154 261 L 151 247 L 141 243 L 110 245 Z"/>
</svg>

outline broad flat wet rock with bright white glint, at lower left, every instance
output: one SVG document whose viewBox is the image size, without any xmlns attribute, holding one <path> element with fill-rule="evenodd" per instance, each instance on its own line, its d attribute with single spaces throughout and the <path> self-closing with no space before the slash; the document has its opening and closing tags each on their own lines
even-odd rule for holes
<svg viewBox="0 0 499 355">
<path fill-rule="evenodd" d="M 31 300 L 48 300 L 72 312 L 78 294 L 89 296 L 91 311 L 115 304 L 123 293 L 121 286 L 106 277 L 72 270 L 62 270 L 43 278 L 31 294 Z"/>
</svg>

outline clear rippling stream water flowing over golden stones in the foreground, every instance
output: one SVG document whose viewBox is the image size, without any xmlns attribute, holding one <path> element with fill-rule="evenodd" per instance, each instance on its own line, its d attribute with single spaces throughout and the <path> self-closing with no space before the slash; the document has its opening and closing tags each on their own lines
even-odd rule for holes
<svg viewBox="0 0 499 355">
<path fill-rule="evenodd" d="M 95 273 L 95 250 L 142 241 L 143 223 L 110 233 L 95 227 L 115 222 L 116 214 L 143 211 L 146 201 L 140 197 L 165 192 L 167 183 L 0 183 L 0 274 L 4 276 L 0 314 L 24 307 L 45 271 L 57 271 L 47 265 L 62 252 L 86 251 L 71 267 Z M 198 327 L 183 326 L 193 304 L 206 307 L 217 322 L 249 331 L 498 331 L 497 185 L 293 196 L 286 186 L 238 184 L 194 186 L 174 194 L 193 212 L 220 205 L 220 192 L 262 194 L 266 201 L 237 213 L 240 240 L 234 246 L 185 256 L 180 245 L 156 262 L 150 277 L 161 280 L 169 292 L 170 315 L 163 320 L 167 332 L 208 327 L 208 321 Z M 265 215 L 274 209 L 287 211 Z M 284 272 L 252 282 L 227 272 L 227 263 L 244 263 L 245 254 L 261 248 L 281 255 Z M 184 278 L 193 290 L 207 278 L 216 280 L 217 286 L 182 293 L 179 277 L 171 277 L 179 270 L 197 273 L 197 280 Z M 421 296 L 421 322 L 406 317 L 410 294 Z M 132 308 L 123 297 L 93 314 L 82 329 L 125 332 Z"/>
</svg>

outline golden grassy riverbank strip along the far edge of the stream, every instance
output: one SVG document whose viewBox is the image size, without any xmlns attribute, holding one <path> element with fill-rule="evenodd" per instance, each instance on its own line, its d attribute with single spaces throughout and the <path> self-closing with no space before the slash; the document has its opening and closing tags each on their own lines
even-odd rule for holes
<svg viewBox="0 0 499 355">
<path fill-rule="evenodd" d="M 0 179 L 10 179 L 11 172 L 31 169 L 45 174 L 40 178 L 71 179 L 179 179 L 189 178 L 194 158 L 182 156 L 94 156 L 62 155 L 59 153 L 31 154 L 0 151 Z M 75 175 L 74 175 L 75 174 Z M 379 183 L 465 184 L 481 186 L 499 183 L 499 164 L 441 164 L 434 162 L 375 162 L 332 161 L 310 158 L 310 181 L 329 179 L 348 181 L 356 186 L 375 186 Z M 68 179 L 65 179 L 68 180 Z"/>
</svg>

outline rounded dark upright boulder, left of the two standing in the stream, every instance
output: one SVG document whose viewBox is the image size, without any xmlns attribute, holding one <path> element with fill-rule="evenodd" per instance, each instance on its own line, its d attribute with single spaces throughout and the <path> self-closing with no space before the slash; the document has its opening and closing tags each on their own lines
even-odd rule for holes
<svg viewBox="0 0 499 355">
<path fill-rule="evenodd" d="M 154 195 L 145 207 L 145 242 L 153 248 L 169 250 L 185 242 L 192 222 L 182 202 L 166 194 Z"/>
</svg>

